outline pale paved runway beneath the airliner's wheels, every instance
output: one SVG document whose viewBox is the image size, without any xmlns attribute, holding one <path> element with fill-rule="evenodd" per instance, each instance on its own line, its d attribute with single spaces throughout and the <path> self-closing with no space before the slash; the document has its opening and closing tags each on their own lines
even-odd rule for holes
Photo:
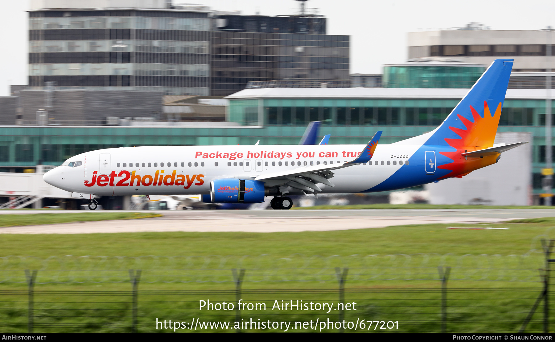
<svg viewBox="0 0 555 342">
<path fill-rule="evenodd" d="M 103 210 L 119 212 L 122 210 Z M 140 211 L 145 213 L 144 210 Z M 304 232 L 380 228 L 406 224 L 497 223 L 555 217 L 555 209 L 367 209 L 367 210 L 160 210 L 163 217 L 0 227 L 3 234 L 132 232 Z M 84 210 L 0 210 L 1 214 L 92 213 Z"/>
</svg>

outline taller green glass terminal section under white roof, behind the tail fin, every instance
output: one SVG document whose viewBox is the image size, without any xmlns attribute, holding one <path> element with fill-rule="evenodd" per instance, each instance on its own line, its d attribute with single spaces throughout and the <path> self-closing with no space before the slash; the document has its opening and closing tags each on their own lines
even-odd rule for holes
<svg viewBox="0 0 555 342">
<path fill-rule="evenodd" d="M 254 144 L 259 139 L 260 144 L 297 144 L 306 125 L 316 120 L 322 122 L 321 136 L 331 134 L 330 144 L 365 144 L 377 130 L 387 134 L 380 142 L 393 143 L 435 129 L 458 102 L 458 99 L 232 99 L 229 119 L 241 125 L 264 126 L 261 132 L 265 136 L 263 133 L 251 138 L 243 136 L 241 144 Z M 499 132 L 532 132 L 537 191 L 541 188 L 539 172 L 545 163 L 545 108 L 544 100 L 507 99 L 498 127 Z M 555 122 L 555 114 L 552 120 Z M 555 147 L 553 153 L 555 158 Z"/>
</svg>

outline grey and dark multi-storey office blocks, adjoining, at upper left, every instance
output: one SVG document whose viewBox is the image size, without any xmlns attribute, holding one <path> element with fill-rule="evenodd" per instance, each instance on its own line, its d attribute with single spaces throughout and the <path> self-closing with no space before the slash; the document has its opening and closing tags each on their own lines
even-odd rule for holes
<svg viewBox="0 0 555 342">
<path fill-rule="evenodd" d="M 54 81 L 60 89 L 225 96 L 253 81 L 349 83 L 349 36 L 326 35 L 319 15 L 211 14 L 168 0 L 34 3 L 31 89 Z"/>
</svg>

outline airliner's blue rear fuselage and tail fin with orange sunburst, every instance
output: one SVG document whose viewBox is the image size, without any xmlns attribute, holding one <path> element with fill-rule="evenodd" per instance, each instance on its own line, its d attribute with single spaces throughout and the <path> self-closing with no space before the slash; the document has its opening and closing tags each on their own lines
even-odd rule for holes
<svg viewBox="0 0 555 342">
<path fill-rule="evenodd" d="M 408 163 L 369 190 L 402 189 L 462 177 L 495 164 L 501 152 L 492 150 L 487 155 L 468 152 L 493 147 L 512 66 L 512 59 L 496 59 L 439 127 L 430 133 L 394 143 L 418 147 Z M 433 169 L 428 167 L 430 163 L 434 165 Z"/>
</svg>

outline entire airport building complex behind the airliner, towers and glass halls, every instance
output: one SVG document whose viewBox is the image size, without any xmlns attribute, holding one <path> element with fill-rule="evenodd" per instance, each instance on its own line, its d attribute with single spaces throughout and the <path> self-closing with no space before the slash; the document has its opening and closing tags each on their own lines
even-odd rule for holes
<svg viewBox="0 0 555 342">
<path fill-rule="evenodd" d="M 473 54 L 476 47 L 468 43 L 471 40 L 461 40 L 466 45 L 457 51 L 464 56 L 448 54 L 452 48 L 446 46 L 455 41 L 437 41 L 430 38 L 431 33 L 419 33 L 410 44 L 429 48 L 410 48 L 410 62 L 388 64 L 382 75 L 354 77 L 350 82 L 349 36 L 323 34 L 325 26 L 305 33 L 295 27 L 268 32 L 262 26 L 268 18 L 222 15 L 210 19 L 204 7 L 168 8 L 165 2 L 152 3 L 158 7 L 104 9 L 102 16 L 100 10 L 54 11 L 44 4 L 29 12 L 32 87 L 0 99 L 0 172 L 39 172 L 44 168 L 38 165 L 60 165 L 73 155 L 112 147 L 250 145 L 258 140 L 260 145 L 298 144 L 311 121 L 322 123 L 319 135 L 331 134 L 330 144 L 366 144 L 377 130 L 384 131 L 382 143 L 398 142 L 441 124 L 485 71 L 489 62 L 484 58 L 498 56 Z M 247 26 L 249 32 L 241 31 L 238 23 L 252 24 L 246 20 L 258 24 Z M 172 30 L 171 23 L 182 27 Z M 102 28 L 94 27 L 101 24 Z M 90 34 L 103 34 L 105 39 Z M 177 49 L 174 43 L 191 44 Z M 530 47 L 521 47 L 524 41 L 517 43 L 517 52 L 529 51 Z M 491 51 L 497 51 L 493 43 L 488 44 Z M 475 56 L 483 58 L 470 58 Z M 546 58 L 523 56 L 530 58 L 517 60 L 532 63 Z M 150 62 L 139 62 L 140 58 L 150 58 Z M 545 66 L 522 65 L 511 74 L 498 131 L 532 134 L 531 178 L 533 192 L 539 194 L 546 145 Z M 194 73 L 190 66 L 195 66 Z M 137 74 L 147 69 L 148 74 Z M 87 74 L 93 71 L 96 74 Z M 139 86 L 140 79 L 147 83 Z M 91 80 L 104 83 L 87 86 Z M 43 82 L 47 81 L 58 84 L 45 90 Z M 224 102 L 209 107 L 207 103 L 215 100 L 208 99 L 210 92 L 225 96 Z M 164 99 L 163 94 L 198 94 L 208 102 L 188 104 L 187 99 Z M 45 109 L 47 103 L 51 107 Z M 221 112 L 206 114 L 211 117 L 191 114 L 195 106 Z M 38 120 L 41 110 L 48 114 L 46 122 Z M 4 199 L 12 195 L 11 190 L 0 192 Z M 119 199 L 105 205 L 118 207 L 125 207 Z"/>
</svg>

